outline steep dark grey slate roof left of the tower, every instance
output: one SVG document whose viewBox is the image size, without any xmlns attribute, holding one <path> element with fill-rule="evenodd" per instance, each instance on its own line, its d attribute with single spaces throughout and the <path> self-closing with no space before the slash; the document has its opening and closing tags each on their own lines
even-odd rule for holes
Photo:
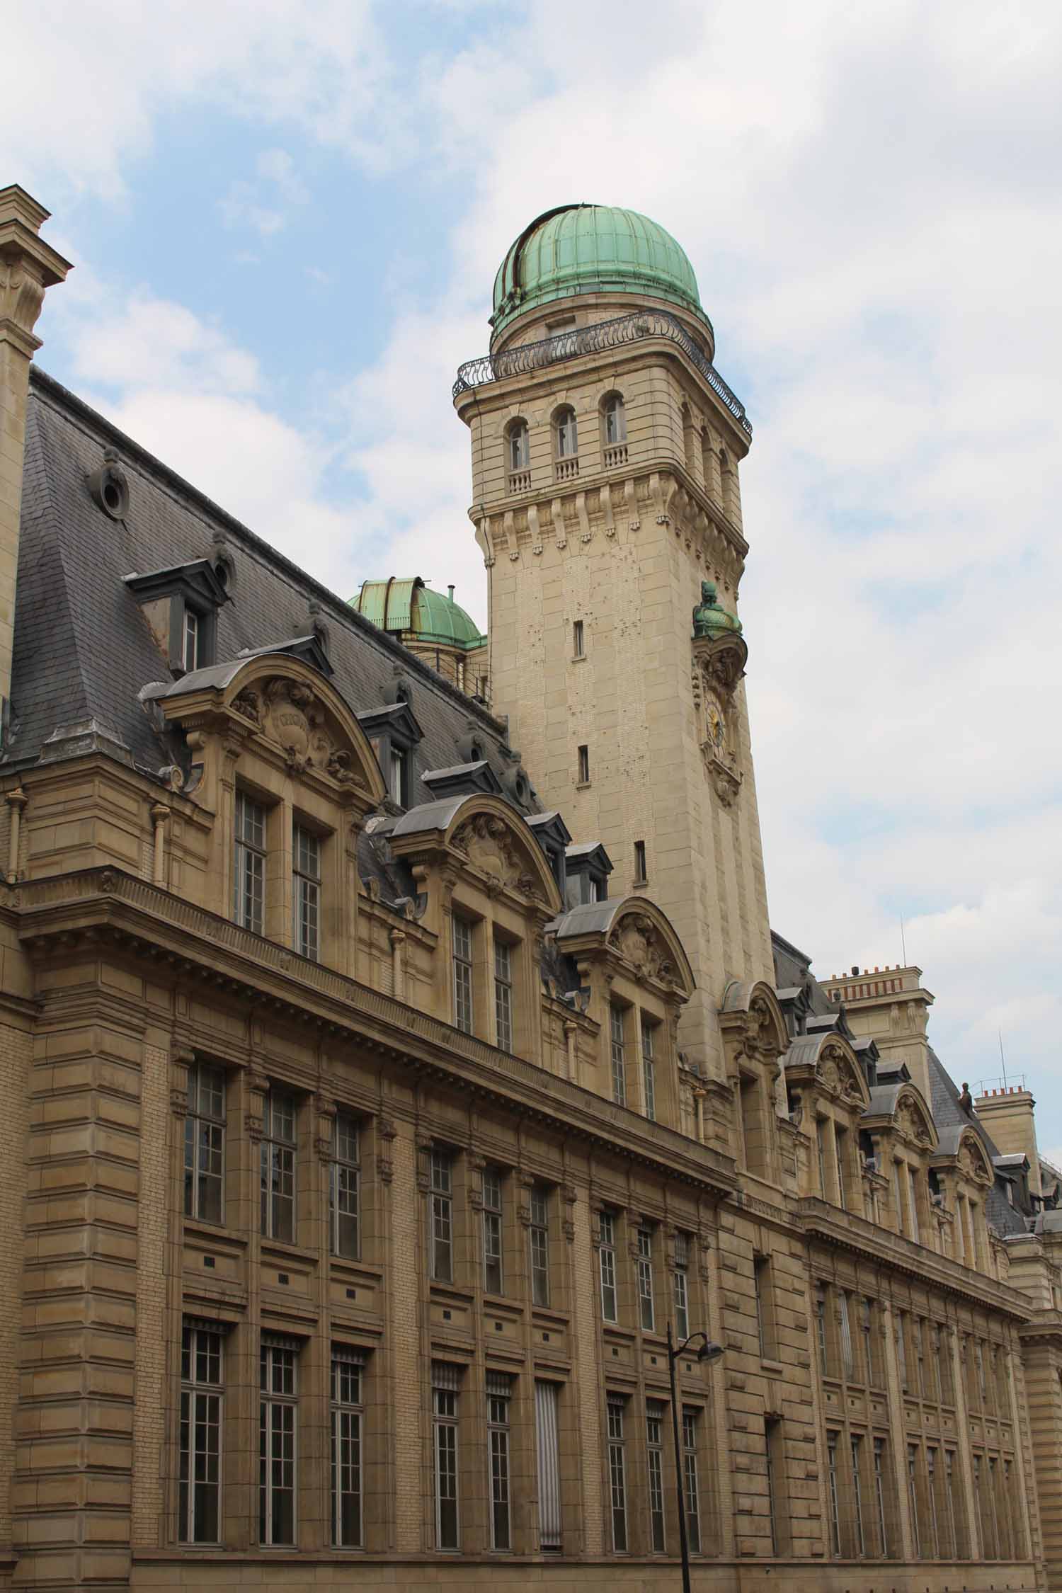
<svg viewBox="0 0 1062 1593">
<path fill-rule="evenodd" d="M 129 508 L 119 521 L 110 519 L 86 487 L 86 478 L 103 464 L 105 446 L 118 451 L 118 465 L 129 479 Z M 174 695 L 231 679 L 248 652 L 283 645 L 277 637 L 306 636 L 312 629 L 312 602 L 315 618 L 328 628 L 333 685 L 353 712 L 393 701 L 398 679 L 406 682 L 424 730 L 414 752 L 414 796 L 424 790 L 424 769 L 460 761 L 457 742 L 470 722 L 494 773 L 506 773 L 508 749 L 500 750 L 505 726 L 482 704 L 444 682 L 37 366 L 30 373 L 11 731 L 3 760 L 33 763 L 57 726 L 72 726 L 84 733 L 91 728 L 97 741 L 126 747 L 145 773 L 182 761 L 175 733 L 156 728 L 158 717 L 150 717 L 139 701 L 145 685 L 169 683 L 172 677 L 124 577 L 129 570 L 212 559 L 221 543 L 232 566 L 232 601 L 217 613 L 217 656 L 229 663 L 185 675 L 170 687 Z M 388 894 L 390 881 L 381 879 L 381 890 Z"/>
</svg>

